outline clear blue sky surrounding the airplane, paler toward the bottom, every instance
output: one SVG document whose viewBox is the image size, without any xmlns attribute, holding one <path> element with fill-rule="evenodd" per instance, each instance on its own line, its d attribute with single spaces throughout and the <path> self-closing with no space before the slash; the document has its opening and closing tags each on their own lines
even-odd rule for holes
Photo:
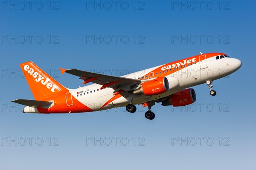
<svg viewBox="0 0 256 170">
<path fill-rule="evenodd" d="M 255 1 L 0 3 L 0 169 L 256 169 Z M 58 68 L 120 76 L 200 51 L 242 67 L 213 82 L 214 97 L 204 84 L 191 106 L 153 106 L 153 121 L 141 106 L 38 115 L 10 102 L 34 99 L 22 62 L 78 88 Z"/>
</svg>

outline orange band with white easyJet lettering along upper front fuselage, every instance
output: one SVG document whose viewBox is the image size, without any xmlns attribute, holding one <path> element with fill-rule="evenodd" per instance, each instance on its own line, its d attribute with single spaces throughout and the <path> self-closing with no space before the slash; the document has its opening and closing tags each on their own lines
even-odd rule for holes
<svg viewBox="0 0 256 170">
<path fill-rule="evenodd" d="M 207 58 L 210 58 L 210 57 L 214 57 L 214 56 L 218 56 L 218 55 L 226 55 L 226 54 L 223 54 L 223 53 L 207 53 L 207 54 L 201 54 L 201 55 L 197 55 L 197 56 L 193 56 L 193 57 L 189 57 L 189 58 L 186 58 L 186 59 L 180 59 L 178 61 L 175 61 L 175 62 L 169 62 L 167 64 L 164 64 L 156 69 L 154 69 L 153 71 L 150 71 L 148 72 L 147 74 L 144 74 L 143 75 L 143 78 L 140 77 L 140 79 L 150 79 L 152 76 L 150 74 L 154 74 L 154 77 L 166 77 L 168 76 L 169 74 L 173 74 L 177 71 L 180 71 L 182 70 L 183 68 L 187 68 L 188 67 L 188 64 L 189 66 L 192 64 L 194 64 L 195 62 L 198 63 L 199 62 L 199 57 L 200 56 L 204 56 L 206 55 L 206 59 Z M 189 63 L 187 63 L 188 61 L 190 61 Z M 199 64 L 199 63 L 198 63 Z M 184 65 L 186 65 L 184 67 Z M 173 67 L 175 66 L 175 67 Z M 180 66 L 182 66 L 182 68 L 180 68 Z M 178 69 L 177 69 L 178 67 Z M 163 68 L 163 70 L 162 70 Z M 175 70 L 174 70 L 175 68 Z M 170 71 L 170 69 L 172 69 L 172 71 Z M 168 71 L 166 71 L 168 70 Z M 163 73 L 164 71 L 164 73 Z M 161 74 L 160 74 L 161 72 Z M 158 75 L 156 75 L 156 73 L 158 73 Z"/>
</svg>

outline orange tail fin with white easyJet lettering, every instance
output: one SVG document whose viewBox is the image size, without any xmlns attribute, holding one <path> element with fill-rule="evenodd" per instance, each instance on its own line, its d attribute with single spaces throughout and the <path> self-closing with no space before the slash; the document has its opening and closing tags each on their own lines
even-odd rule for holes
<svg viewBox="0 0 256 170">
<path fill-rule="evenodd" d="M 44 100 L 49 96 L 67 91 L 67 88 L 50 77 L 31 61 L 20 64 L 20 68 L 26 77 L 26 81 L 29 84 L 29 88 L 35 100 Z"/>
</svg>

